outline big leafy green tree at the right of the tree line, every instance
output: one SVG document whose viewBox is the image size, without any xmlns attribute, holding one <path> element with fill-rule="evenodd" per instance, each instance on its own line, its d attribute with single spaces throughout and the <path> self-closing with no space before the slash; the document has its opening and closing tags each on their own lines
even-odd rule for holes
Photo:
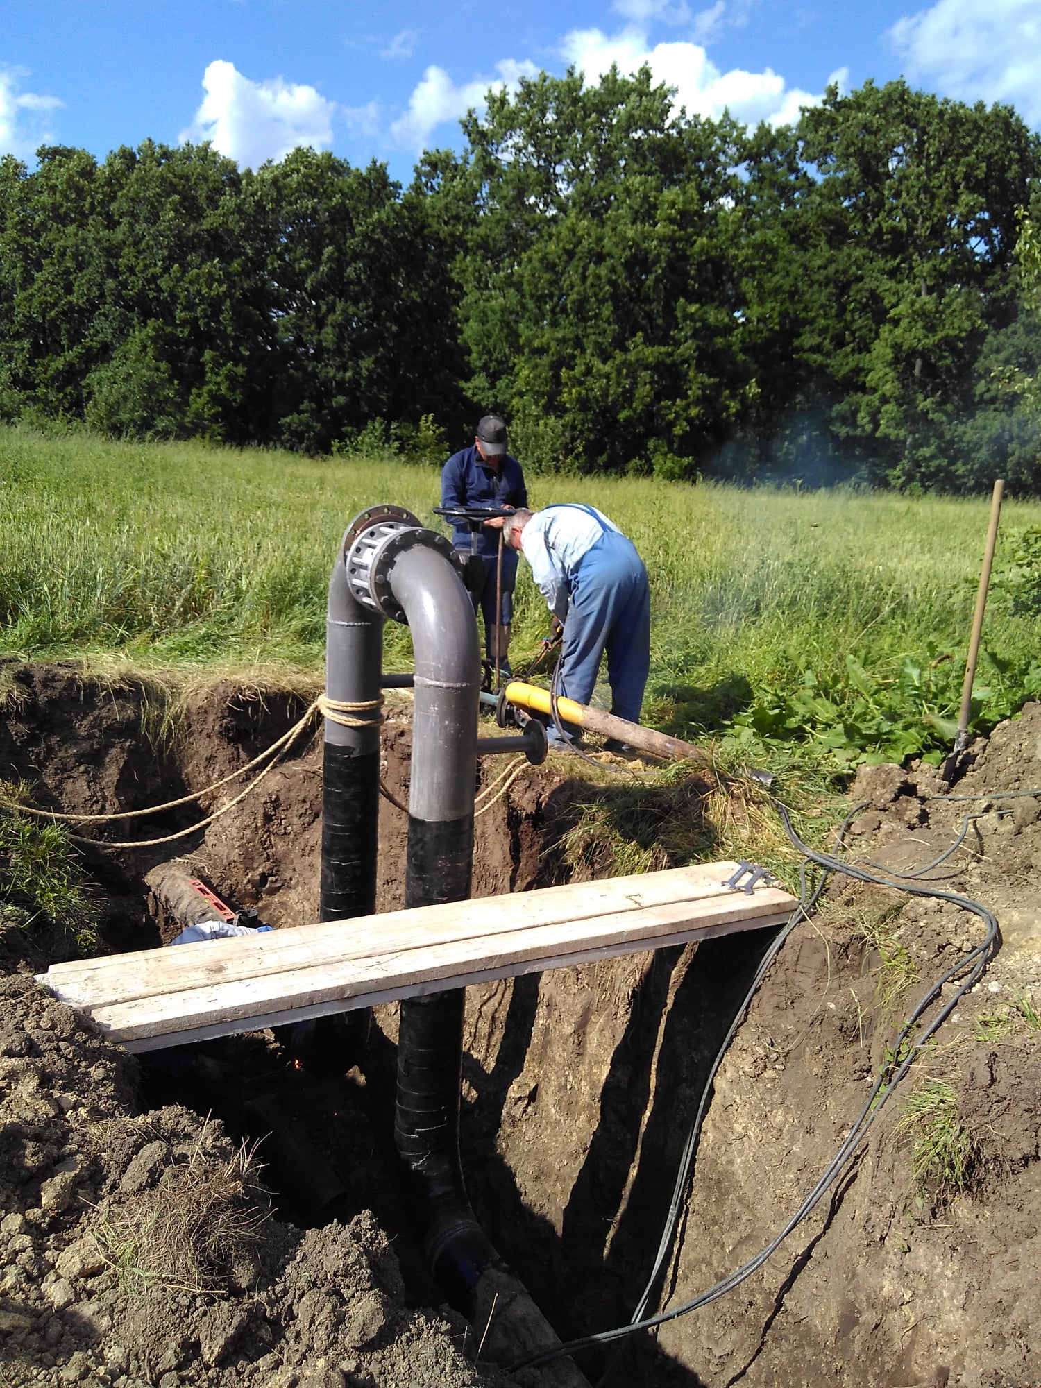
<svg viewBox="0 0 1041 1388">
<path fill-rule="evenodd" d="M 987 335 L 1015 307 L 1016 207 L 1041 140 L 1010 107 L 866 83 L 802 114 L 802 362 L 873 480 L 956 489 L 952 426 Z"/>
</svg>

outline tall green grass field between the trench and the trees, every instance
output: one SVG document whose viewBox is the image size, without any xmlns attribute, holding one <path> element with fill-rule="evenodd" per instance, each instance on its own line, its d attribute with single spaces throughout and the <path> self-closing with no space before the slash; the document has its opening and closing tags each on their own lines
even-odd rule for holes
<svg viewBox="0 0 1041 1388">
<path fill-rule="evenodd" d="M 600 507 L 647 561 L 647 720 L 840 762 L 945 745 L 987 501 L 529 480 L 534 505 Z M 0 652 L 142 670 L 318 675 L 347 522 L 386 501 L 439 525 L 437 469 L 390 458 L 0 429 Z M 1041 504 L 1006 502 L 999 569 L 1035 525 Z M 522 564 L 515 668 L 545 626 Z M 1041 693 L 1040 636 L 1038 618 L 995 597 L 980 727 Z M 407 668 L 407 630 L 387 623 L 386 650 L 389 668 Z"/>
</svg>

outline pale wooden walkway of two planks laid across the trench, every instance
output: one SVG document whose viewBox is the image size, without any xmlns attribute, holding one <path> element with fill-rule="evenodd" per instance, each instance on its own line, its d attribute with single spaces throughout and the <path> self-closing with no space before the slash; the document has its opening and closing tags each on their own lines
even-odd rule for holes
<svg viewBox="0 0 1041 1388">
<path fill-rule="evenodd" d="M 155 1049 L 663 944 L 777 924 L 795 899 L 705 863 L 56 965 L 40 981 Z"/>
</svg>

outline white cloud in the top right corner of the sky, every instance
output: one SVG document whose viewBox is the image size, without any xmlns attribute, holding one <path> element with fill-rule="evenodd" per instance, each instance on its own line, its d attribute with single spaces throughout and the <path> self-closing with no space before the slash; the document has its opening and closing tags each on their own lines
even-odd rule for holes
<svg viewBox="0 0 1041 1388">
<path fill-rule="evenodd" d="M 962 100 L 1010 101 L 1041 124 L 1041 0 L 937 0 L 890 29 L 912 81 Z"/>
</svg>

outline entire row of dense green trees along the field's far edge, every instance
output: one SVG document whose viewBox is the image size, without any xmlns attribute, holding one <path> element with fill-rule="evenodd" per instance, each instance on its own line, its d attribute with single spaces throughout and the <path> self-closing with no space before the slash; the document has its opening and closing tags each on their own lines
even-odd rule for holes
<svg viewBox="0 0 1041 1388">
<path fill-rule="evenodd" d="M 568 72 L 462 128 L 407 189 L 312 150 L 6 157 L 0 418 L 436 457 L 498 411 L 533 471 L 1041 490 L 1010 107 L 869 82 L 747 130 Z"/>
</svg>

